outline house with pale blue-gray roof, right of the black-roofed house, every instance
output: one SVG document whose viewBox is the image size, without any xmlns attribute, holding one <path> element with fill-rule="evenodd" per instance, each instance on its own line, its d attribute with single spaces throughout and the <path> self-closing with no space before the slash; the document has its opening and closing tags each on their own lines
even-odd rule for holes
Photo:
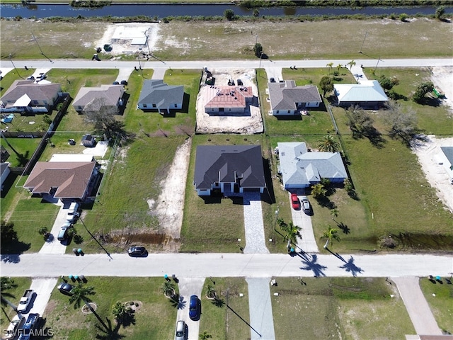
<svg viewBox="0 0 453 340">
<path fill-rule="evenodd" d="M 338 152 L 309 152 L 304 142 L 277 143 L 279 172 L 285 189 L 309 188 L 328 179 L 341 184 L 348 178 Z"/>
</svg>

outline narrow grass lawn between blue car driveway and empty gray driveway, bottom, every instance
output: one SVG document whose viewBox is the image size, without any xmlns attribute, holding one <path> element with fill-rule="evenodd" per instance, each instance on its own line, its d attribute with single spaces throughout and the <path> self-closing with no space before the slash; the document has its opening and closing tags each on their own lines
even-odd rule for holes
<svg viewBox="0 0 453 340">
<path fill-rule="evenodd" d="M 212 335 L 212 339 L 248 339 L 250 328 L 240 319 L 242 317 L 246 322 L 250 322 L 246 280 L 243 278 L 212 278 L 212 281 L 205 280 L 202 296 L 200 296 L 202 302 L 200 334 L 206 331 L 207 334 Z M 216 291 L 220 300 L 217 305 L 206 297 L 207 285 L 212 285 Z M 240 293 L 243 294 L 242 297 L 239 296 Z M 237 315 L 226 307 L 226 303 Z"/>
</svg>

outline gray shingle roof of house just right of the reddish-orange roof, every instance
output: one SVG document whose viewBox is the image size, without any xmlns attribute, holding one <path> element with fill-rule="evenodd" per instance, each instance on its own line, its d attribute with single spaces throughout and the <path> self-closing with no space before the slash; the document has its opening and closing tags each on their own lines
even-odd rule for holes
<svg viewBox="0 0 453 340">
<path fill-rule="evenodd" d="M 321 102 L 321 96 L 319 96 L 316 86 L 296 86 L 294 80 L 287 80 L 284 83 L 268 83 L 268 89 L 273 110 L 295 110 L 296 103 Z"/>
</svg>

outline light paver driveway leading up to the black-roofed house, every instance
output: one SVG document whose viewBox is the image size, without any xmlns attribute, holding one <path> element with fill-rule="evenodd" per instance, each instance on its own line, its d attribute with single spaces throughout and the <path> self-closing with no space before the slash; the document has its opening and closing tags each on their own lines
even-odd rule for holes
<svg viewBox="0 0 453 340">
<path fill-rule="evenodd" d="M 260 193 L 243 194 L 243 220 L 246 229 L 244 254 L 269 254 L 265 244 Z"/>
</svg>

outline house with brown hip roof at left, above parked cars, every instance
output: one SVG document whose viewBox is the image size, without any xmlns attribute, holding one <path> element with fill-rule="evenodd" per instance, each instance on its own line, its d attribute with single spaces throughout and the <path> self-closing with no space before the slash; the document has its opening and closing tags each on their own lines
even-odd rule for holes
<svg viewBox="0 0 453 340">
<path fill-rule="evenodd" d="M 23 185 L 33 194 L 84 200 L 96 183 L 96 162 L 37 162 Z"/>
</svg>

